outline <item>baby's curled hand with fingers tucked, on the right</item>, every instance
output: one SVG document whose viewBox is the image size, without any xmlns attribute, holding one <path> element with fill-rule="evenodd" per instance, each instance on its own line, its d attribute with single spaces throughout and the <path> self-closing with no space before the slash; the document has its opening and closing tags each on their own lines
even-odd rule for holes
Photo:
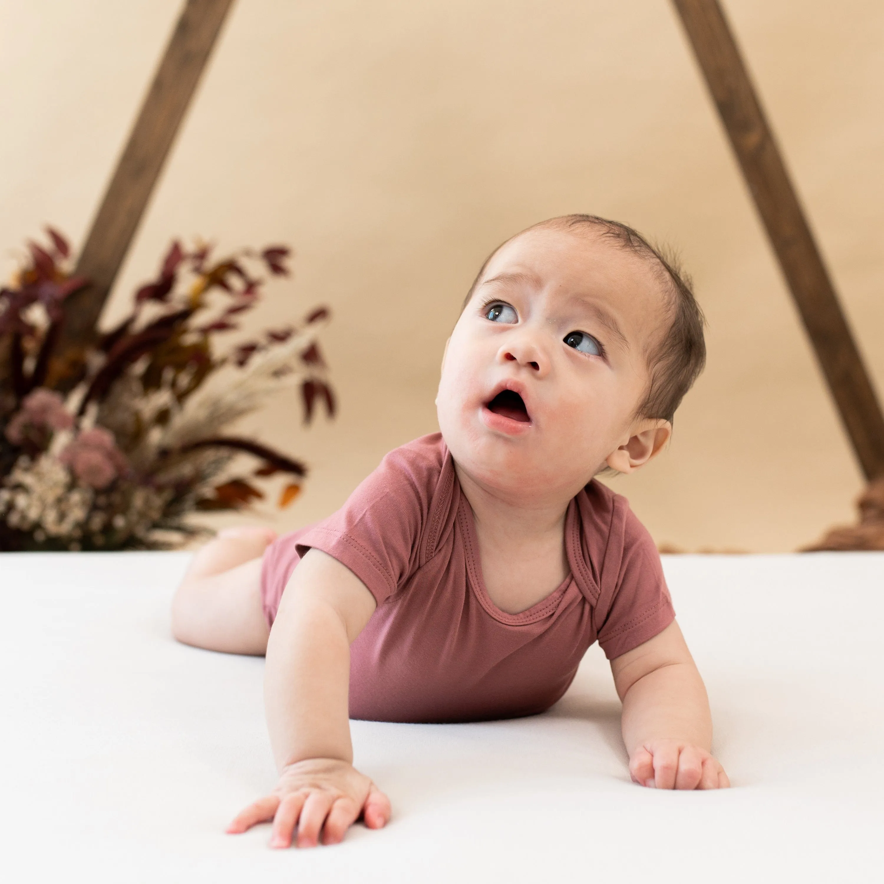
<svg viewBox="0 0 884 884">
<path fill-rule="evenodd" d="M 728 774 L 707 751 L 678 740 L 649 740 L 629 757 L 633 782 L 651 789 L 727 789 Z"/>
</svg>

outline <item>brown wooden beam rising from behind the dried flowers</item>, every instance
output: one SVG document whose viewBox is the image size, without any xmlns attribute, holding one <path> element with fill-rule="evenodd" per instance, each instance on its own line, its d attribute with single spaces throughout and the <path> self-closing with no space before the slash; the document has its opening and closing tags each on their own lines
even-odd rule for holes
<svg viewBox="0 0 884 884">
<path fill-rule="evenodd" d="M 96 338 L 104 302 L 232 2 L 187 0 L 181 11 L 80 251 L 74 272 L 91 282 L 68 302 L 57 354 L 80 350 Z"/>
</svg>

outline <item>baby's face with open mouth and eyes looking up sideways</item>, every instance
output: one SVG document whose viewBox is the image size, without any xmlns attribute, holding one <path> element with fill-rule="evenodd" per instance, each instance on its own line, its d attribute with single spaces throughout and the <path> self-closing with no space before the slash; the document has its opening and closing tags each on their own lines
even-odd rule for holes
<svg viewBox="0 0 884 884">
<path fill-rule="evenodd" d="M 594 234 L 538 228 L 500 248 L 442 365 L 438 422 L 459 468 L 542 497 L 623 469 L 621 446 L 661 423 L 635 413 L 664 297 L 646 263 Z"/>
</svg>

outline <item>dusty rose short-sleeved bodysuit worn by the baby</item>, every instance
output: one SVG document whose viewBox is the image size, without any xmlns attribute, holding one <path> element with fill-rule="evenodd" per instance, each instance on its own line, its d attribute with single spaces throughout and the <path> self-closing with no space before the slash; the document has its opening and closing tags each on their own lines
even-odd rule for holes
<svg viewBox="0 0 884 884">
<path fill-rule="evenodd" d="M 351 646 L 350 716 L 469 721 L 542 712 L 568 689 L 598 639 L 609 659 L 674 619 L 659 554 L 626 499 L 593 480 L 571 500 L 571 573 L 522 613 L 505 613 L 482 579 L 469 501 L 440 434 L 387 454 L 344 507 L 265 552 L 272 624 L 310 547 L 346 565 L 377 599 Z"/>
</svg>

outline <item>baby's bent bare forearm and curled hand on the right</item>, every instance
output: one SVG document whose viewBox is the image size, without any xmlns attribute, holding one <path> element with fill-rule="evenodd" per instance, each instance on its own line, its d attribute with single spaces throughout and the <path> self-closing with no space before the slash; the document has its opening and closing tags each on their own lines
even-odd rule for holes
<svg viewBox="0 0 884 884">
<path fill-rule="evenodd" d="M 710 754 L 709 701 L 677 623 L 613 659 L 611 671 L 623 702 L 623 741 L 633 781 L 657 789 L 730 785 Z"/>
</svg>

